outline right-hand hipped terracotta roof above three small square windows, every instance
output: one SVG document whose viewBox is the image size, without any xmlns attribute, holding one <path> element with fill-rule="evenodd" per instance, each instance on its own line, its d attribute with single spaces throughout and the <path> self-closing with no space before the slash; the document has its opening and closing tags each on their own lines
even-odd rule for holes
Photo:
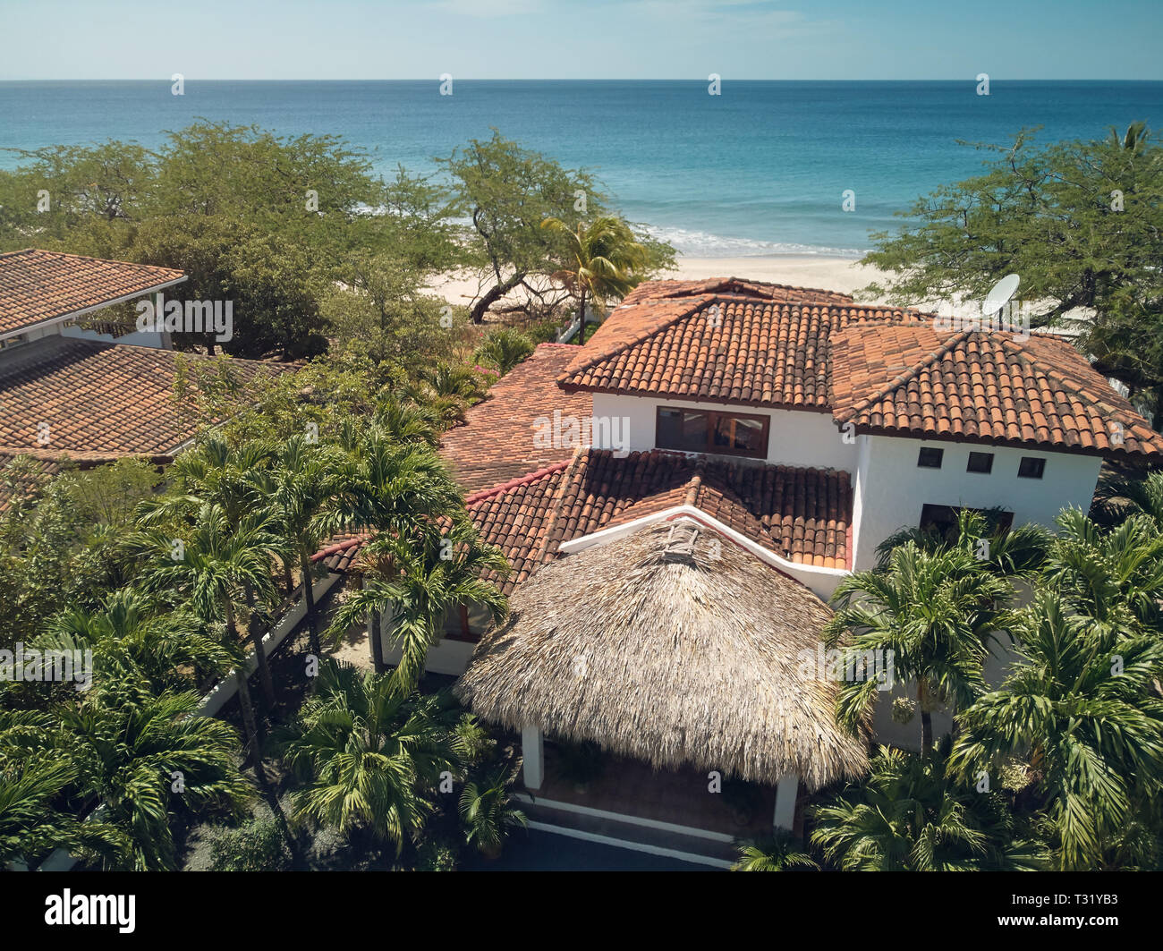
<svg viewBox="0 0 1163 951">
<path fill-rule="evenodd" d="M 832 349 L 835 419 L 857 431 L 1163 453 L 1163 437 L 1058 337 L 882 327 L 836 334 Z"/>
</svg>

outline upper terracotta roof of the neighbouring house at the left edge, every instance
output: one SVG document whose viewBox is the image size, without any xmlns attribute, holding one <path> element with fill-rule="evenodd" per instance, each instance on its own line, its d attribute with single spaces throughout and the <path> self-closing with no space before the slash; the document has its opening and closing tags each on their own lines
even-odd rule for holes
<svg viewBox="0 0 1163 951">
<path fill-rule="evenodd" d="M 140 294 L 185 277 L 181 271 L 56 251 L 0 255 L 0 334 Z"/>
</svg>

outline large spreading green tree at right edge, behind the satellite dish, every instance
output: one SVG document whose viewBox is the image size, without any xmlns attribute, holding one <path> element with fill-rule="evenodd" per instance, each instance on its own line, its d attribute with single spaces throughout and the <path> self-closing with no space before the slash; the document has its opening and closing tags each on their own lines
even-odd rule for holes
<svg viewBox="0 0 1163 951">
<path fill-rule="evenodd" d="M 1113 130 L 1112 130 L 1113 133 Z M 912 222 L 873 235 L 863 258 L 890 272 L 869 293 L 893 302 L 983 300 L 1004 274 L 1036 301 L 1034 326 L 1093 312 L 1076 327 L 1096 366 L 1163 419 L 1163 149 L 1142 123 L 1125 136 L 1036 145 L 1023 130 L 983 174 L 919 198 Z"/>
</svg>

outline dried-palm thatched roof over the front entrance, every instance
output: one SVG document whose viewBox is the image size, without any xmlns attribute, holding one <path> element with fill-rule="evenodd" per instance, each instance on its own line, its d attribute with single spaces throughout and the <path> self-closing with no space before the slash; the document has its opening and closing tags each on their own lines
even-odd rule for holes
<svg viewBox="0 0 1163 951">
<path fill-rule="evenodd" d="M 512 729 L 659 768 L 768 784 L 793 772 L 815 789 L 868 770 L 865 744 L 835 723 L 839 685 L 802 672 L 830 615 L 712 530 L 654 524 L 542 566 L 456 693 Z"/>
</svg>

